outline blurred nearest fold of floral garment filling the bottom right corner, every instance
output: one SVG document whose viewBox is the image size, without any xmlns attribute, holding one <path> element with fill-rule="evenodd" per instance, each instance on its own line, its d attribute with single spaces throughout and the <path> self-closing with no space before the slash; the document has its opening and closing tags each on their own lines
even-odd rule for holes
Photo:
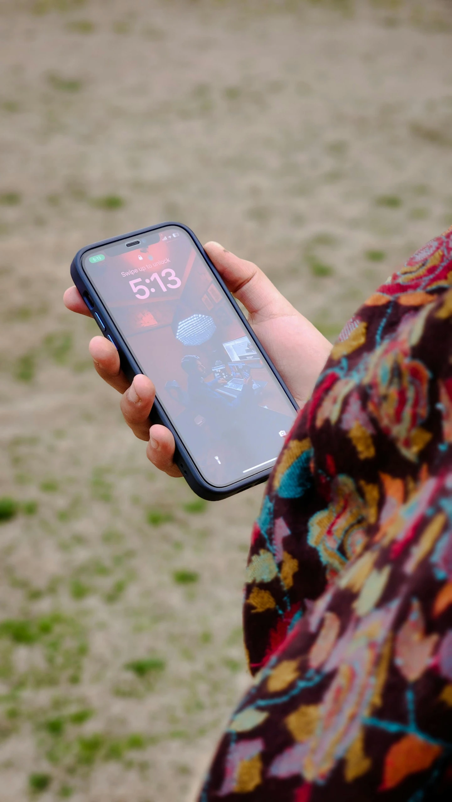
<svg viewBox="0 0 452 802">
<path fill-rule="evenodd" d="M 452 799 L 452 473 L 426 481 L 258 674 L 202 802 Z"/>
</svg>

